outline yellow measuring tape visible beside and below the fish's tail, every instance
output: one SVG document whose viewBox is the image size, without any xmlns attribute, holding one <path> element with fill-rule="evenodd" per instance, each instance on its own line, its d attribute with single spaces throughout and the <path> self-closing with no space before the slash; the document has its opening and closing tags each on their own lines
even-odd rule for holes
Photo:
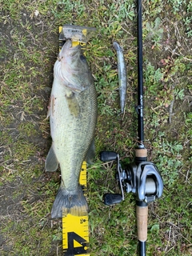
<svg viewBox="0 0 192 256">
<path fill-rule="evenodd" d="M 82 163 L 79 183 L 86 192 L 86 162 Z M 89 223 L 88 215 L 62 217 L 62 248 L 65 256 L 89 256 Z"/>
</svg>

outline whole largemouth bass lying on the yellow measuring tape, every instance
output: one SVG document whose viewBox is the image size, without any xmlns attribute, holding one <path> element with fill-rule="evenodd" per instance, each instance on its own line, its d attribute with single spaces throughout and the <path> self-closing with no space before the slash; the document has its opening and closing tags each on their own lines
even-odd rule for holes
<svg viewBox="0 0 192 256">
<path fill-rule="evenodd" d="M 52 146 L 46 171 L 61 169 L 61 185 L 51 218 L 86 215 L 88 206 L 79 185 L 82 162 L 90 154 L 97 119 L 97 93 L 81 46 L 66 41 L 54 64 L 54 83 L 48 110 Z"/>
</svg>

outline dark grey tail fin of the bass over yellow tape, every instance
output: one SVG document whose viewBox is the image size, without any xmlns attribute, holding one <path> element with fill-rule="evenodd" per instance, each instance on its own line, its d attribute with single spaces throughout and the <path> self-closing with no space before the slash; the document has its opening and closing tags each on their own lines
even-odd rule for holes
<svg viewBox="0 0 192 256">
<path fill-rule="evenodd" d="M 70 194 L 61 184 L 51 210 L 51 218 L 62 218 L 66 214 L 85 216 L 87 213 L 88 205 L 82 192 L 82 187 L 78 185 L 76 193 Z"/>
</svg>

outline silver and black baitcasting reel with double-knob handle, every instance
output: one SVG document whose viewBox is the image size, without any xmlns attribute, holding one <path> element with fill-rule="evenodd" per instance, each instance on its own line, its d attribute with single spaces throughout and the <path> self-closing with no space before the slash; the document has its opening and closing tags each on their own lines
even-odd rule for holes
<svg viewBox="0 0 192 256">
<path fill-rule="evenodd" d="M 153 162 L 146 162 L 146 149 L 135 150 L 135 161 L 122 169 L 119 155 L 114 151 L 102 151 L 100 160 L 102 162 L 116 161 L 116 179 L 119 182 L 122 194 L 104 194 L 104 203 L 107 206 L 122 202 L 126 193 L 136 194 L 138 202 L 154 202 L 162 196 L 163 182 L 157 166 Z"/>
</svg>

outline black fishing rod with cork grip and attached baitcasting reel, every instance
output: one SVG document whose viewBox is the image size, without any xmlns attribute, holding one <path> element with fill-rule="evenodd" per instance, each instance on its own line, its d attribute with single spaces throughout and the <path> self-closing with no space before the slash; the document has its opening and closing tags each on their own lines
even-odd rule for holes
<svg viewBox="0 0 192 256">
<path fill-rule="evenodd" d="M 122 202 L 126 193 L 136 195 L 136 216 L 138 229 L 139 255 L 146 255 L 148 204 L 162 196 L 163 182 L 157 166 L 147 161 L 147 149 L 144 145 L 143 122 L 143 73 L 142 73 L 142 0 L 137 1 L 138 11 L 138 145 L 135 148 L 134 162 L 122 169 L 119 154 L 114 151 L 102 151 L 102 162 L 116 161 L 116 179 L 121 194 L 104 194 L 107 206 Z"/>
</svg>

